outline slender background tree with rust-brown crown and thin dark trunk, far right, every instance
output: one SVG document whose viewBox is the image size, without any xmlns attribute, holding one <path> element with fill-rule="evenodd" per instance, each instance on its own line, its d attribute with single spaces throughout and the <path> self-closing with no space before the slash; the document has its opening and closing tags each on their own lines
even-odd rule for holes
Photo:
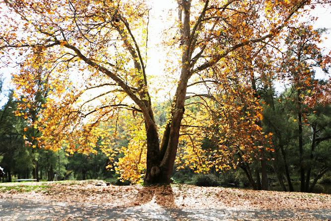
<svg viewBox="0 0 331 221">
<path fill-rule="evenodd" d="M 291 92 L 295 96 L 290 95 L 289 99 L 296 102 L 297 117 L 294 118 L 294 121 L 298 123 L 300 190 L 302 192 L 305 192 L 307 187 L 305 183 L 303 124 L 307 121 L 306 114 L 308 112 L 303 102 L 306 91 L 310 92 L 312 86 L 314 76 L 311 69 L 313 66 L 319 66 L 322 63 L 322 55 L 317 47 L 317 43 L 321 41 L 320 34 L 321 31 L 318 33 L 318 31 L 312 30 L 312 26 L 308 25 L 291 28 L 290 36 L 286 39 L 287 56 L 283 63 L 284 76 L 291 82 Z M 309 183 L 309 179 L 307 182 Z"/>
</svg>

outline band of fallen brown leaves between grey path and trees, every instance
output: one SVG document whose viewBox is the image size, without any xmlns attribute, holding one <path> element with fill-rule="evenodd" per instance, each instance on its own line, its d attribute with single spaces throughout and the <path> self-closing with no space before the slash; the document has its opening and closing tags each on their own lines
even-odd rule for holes
<svg viewBox="0 0 331 221">
<path fill-rule="evenodd" d="M 17 188 L 12 188 L 19 186 Z M 24 186 L 41 186 L 23 188 Z M 30 191 L 24 191 L 29 189 Z M 254 191 L 186 184 L 164 186 L 114 186 L 100 180 L 1 183 L 0 198 L 41 200 L 57 206 L 81 205 L 103 208 L 143 207 L 144 210 L 199 209 L 231 211 L 331 210 L 328 194 Z M 284 212 L 285 213 L 285 212 Z"/>
</svg>

